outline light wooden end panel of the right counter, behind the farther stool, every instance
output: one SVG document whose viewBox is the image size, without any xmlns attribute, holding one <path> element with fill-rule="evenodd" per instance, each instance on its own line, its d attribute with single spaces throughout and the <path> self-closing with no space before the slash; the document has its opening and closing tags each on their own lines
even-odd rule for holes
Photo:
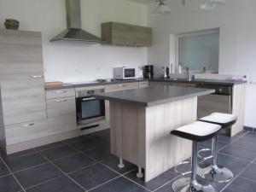
<svg viewBox="0 0 256 192">
<path fill-rule="evenodd" d="M 231 127 L 231 131 L 230 131 L 231 137 L 235 136 L 237 133 L 243 130 L 245 100 L 246 100 L 246 85 L 247 84 L 235 84 L 233 87 L 232 113 L 237 115 L 237 121 L 236 121 L 236 124 Z"/>
</svg>

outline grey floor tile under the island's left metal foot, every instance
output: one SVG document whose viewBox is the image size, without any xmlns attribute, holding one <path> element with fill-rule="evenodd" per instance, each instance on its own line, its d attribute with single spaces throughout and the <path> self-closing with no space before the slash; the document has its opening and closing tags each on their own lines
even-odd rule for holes
<svg viewBox="0 0 256 192">
<path fill-rule="evenodd" d="M 113 169 L 116 172 L 119 172 L 120 174 L 125 174 L 126 172 L 131 172 L 131 170 L 137 168 L 137 166 L 134 166 L 133 164 L 124 160 L 125 167 L 120 169 L 118 167 L 119 159 L 116 156 L 112 156 L 112 157 L 108 158 L 108 160 L 103 160 L 102 164 L 110 167 L 111 169 Z"/>
</svg>

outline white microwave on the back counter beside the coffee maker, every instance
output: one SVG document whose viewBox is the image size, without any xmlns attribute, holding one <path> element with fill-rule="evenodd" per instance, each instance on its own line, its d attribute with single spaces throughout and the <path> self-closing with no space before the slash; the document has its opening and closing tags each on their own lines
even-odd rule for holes
<svg viewBox="0 0 256 192">
<path fill-rule="evenodd" d="M 136 68 L 116 67 L 113 69 L 114 79 L 137 79 Z"/>
</svg>

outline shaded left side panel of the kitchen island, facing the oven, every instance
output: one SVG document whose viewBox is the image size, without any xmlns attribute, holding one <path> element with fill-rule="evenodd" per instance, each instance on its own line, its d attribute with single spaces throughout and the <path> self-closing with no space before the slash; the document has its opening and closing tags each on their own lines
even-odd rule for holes
<svg viewBox="0 0 256 192">
<path fill-rule="evenodd" d="M 111 153 L 145 167 L 145 107 L 110 101 Z"/>
</svg>

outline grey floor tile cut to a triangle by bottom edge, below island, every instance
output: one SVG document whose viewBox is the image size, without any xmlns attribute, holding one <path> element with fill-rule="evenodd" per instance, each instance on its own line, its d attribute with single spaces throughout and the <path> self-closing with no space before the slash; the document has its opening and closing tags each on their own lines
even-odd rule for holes
<svg viewBox="0 0 256 192">
<path fill-rule="evenodd" d="M 148 190 L 143 189 L 124 177 L 118 177 L 109 183 L 92 189 L 91 192 L 148 192 Z"/>
</svg>

